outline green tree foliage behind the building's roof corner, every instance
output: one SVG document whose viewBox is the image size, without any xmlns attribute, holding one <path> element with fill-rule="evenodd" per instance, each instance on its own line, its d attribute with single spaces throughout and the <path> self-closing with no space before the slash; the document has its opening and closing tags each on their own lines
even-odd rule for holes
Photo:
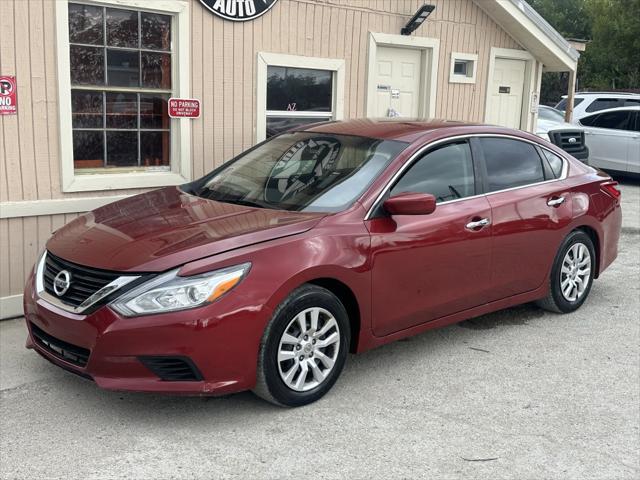
<svg viewBox="0 0 640 480">
<path fill-rule="evenodd" d="M 640 90 L 640 0 L 529 0 L 567 38 L 590 40 L 578 63 L 581 90 Z M 545 73 L 542 103 L 567 93 L 568 75 Z"/>
</svg>

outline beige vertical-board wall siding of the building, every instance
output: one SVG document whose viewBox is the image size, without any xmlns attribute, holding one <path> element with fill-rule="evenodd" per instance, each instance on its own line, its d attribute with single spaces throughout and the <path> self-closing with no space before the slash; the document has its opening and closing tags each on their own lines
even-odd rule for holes
<svg viewBox="0 0 640 480">
<path fill-rule="evenodd" d="M 251 22 L 228 22 L 192 0 L 191 92 L 202 101 L 192 121 L 194 178 L 255 139 L 257 52 L 343 58 L 345 117 L 365 115 L 368 32 L 400 32 L 422 0 L 279 0 Z M 414 35 L 439 38 L 436 115 L 481 121 L 491 47 L 520 48 L 471 0 L 436 6 Z M 0 201 L 135 193 L 63 193 L 52 0 L 0 0 L 0 72 L 18 80 L 17 116 L 0 117 Z M 477 53 L 476 84 L 449 84 L 452 51 Z M 0 297 L 19 294 L 51 231 L 74 215 L 0 220 Z"/>
</svg>

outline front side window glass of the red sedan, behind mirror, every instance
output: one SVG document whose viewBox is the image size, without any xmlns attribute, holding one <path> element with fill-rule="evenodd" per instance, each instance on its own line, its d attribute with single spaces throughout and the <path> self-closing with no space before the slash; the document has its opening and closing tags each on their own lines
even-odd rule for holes
<svg viewBox="0 0 640 480">
<path fill-rule="evenodd" d="M 431 193 L 438 202 L 474 195 L 469 145 L 466 142 L 445 145 L 427 153 L 391 189 L 391 195 L 404 192 Z"/>
</svg>

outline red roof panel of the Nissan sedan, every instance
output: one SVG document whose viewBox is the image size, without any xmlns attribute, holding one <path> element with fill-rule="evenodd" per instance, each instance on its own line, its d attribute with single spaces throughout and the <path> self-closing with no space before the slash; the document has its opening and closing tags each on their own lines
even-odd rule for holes
<svg viewBox="0 0 640 480">
<path fill-rule="evenodd" d="M 309 125 L 307 128 L 302 128 L 299 131 L 355 135 L 359 137 L 370 137 L 383 140 L 398 140 L 412 143 L 422 138 L 427 133 L 446 130 L 458 130 L 458 127 L 482 127 L 479 128 L 479 130 L 484 130 L 486 127 L 487 131 L 492 131 L 492 127 L 480 123 L 403 117 L 362 118 L 354 120 L 325 122 Z M 493 130 L 495 129 L 496 127 L 493 127 Z"/>
</svg>

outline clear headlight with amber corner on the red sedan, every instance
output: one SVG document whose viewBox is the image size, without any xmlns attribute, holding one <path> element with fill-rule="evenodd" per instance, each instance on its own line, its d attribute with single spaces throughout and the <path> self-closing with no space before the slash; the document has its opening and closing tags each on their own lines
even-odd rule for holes
<svg viewBox="0 0 640 480">
<path fill-rule="evenodd" d="M 124 294 L 111 307 L 126 317 L 199 307 L 238 285 L 250 267 L 244 263 L 192 277 L 179 277 L 178 269 L 172 270 Z"/>
</svg>

